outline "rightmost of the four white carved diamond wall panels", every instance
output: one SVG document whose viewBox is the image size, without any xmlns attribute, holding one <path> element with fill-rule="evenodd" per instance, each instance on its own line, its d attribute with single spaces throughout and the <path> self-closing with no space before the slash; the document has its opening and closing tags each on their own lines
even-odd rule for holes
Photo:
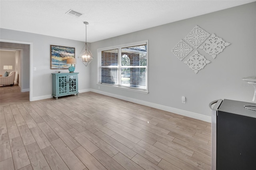
<svg viewBox="0 0 256 170">
<path fill-rule="evenodd" d="M 215 59 L 216 55 L 223 51 L 223 49 L 230 45 L 230 43 L 225 42 L 222 38 L 212 34 L 211 37 L 200 46 L 200 49 L 203 49 L 206 53 L 210 54 L 212 58 Z"/>
</svg>

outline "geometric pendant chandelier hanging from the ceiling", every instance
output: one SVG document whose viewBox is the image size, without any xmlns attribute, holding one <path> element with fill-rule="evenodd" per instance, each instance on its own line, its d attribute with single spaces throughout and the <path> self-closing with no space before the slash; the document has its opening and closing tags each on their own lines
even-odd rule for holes
<svg viewBox="0 0 256 170">
<path fill-rule="evenodd" d="M 82 49 L 82 51 L 80 52 L 80 54 L 78 55 L 78 59 L 80 59 L 80 61 L 82 61 L 82 63 L 84 63 L 85 66 L 87 66 L 92 60 L 92 53 L 87 45 L 87 41 L 86 41 L 86 25 L 89 24 L 88 22 L 84 22 L 85 24 L 85 45 Z"/>
</svg>

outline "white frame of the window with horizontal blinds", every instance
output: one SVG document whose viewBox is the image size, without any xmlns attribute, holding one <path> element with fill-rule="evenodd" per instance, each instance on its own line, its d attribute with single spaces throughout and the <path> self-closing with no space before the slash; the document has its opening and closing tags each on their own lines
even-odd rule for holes
<svg viewBox="0 0 256 170">
<path fill-rule="evenodd" d="M 121 75 L 121 71 L 119 71 L 121 69 L 121 49 L 125 48 L 125 47 L 132 47 L 132 46 L 139 46 L 139 45 L 143 45 L 146 44 L 147 45 L 147 65 L 146 65 L 146 89 L 138 89 L 138 88 L 134 88 L 134 87 L 126 87 L 126 86 L 121 86 L 121 85 L 110 85 L 110 84 L 104 84 L 104 83 L 100 83 L 100 63 L 101 63 L 101 52 L 102 51 L 106 51 L 106 50 L 111 50 L 111 49 L 118 49 L 118 84 L 120 81 L 120 75 Z M 106 86 L 106 87 L 113 87 L 113 88 L 118 88 L 118 89 L 124 89 L 124 90 L 128 90 L 128 91 L 136 91 L 136 92 L 140 92 L 140 93 L 148 93 L 148 40 L 144 40 L 144 41 L 140 41 L 140 42 L 134 42 L 134 43 L 127 43 L 127 44 L 122 44 L 122 45 L 115 45 L 115 46 L 111 46 L 111 47 L 104 47 L 104 48 L 99 48 L 97 49 L 97 59 L 98 59 L 98 65 L 97 65 L 97 85 L 100 86 Z"/>
</svg>

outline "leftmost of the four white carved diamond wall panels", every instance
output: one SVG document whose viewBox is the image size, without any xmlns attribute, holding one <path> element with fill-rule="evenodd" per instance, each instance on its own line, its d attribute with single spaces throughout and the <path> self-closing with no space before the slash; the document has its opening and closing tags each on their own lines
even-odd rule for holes
<svg viewBox="0 0 256 170">
<path fill-rule="evenodd" d="M 193 50 L 187 43 L 183 40 L 180 40 L 174 48 L 172 49 L 172 53 L 182 61 L 191 51 Z"/>
</svg>

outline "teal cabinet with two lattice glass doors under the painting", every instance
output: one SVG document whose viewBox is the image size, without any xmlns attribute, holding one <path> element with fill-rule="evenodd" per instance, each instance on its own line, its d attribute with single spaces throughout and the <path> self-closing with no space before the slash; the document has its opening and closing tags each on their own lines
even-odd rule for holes
<svg viewBox="0 0 256 170">
<path fill-rule="evenodd" d="M 78 95 L 78 73 L 52 73 L 52 96 Z"/>
</svg>

